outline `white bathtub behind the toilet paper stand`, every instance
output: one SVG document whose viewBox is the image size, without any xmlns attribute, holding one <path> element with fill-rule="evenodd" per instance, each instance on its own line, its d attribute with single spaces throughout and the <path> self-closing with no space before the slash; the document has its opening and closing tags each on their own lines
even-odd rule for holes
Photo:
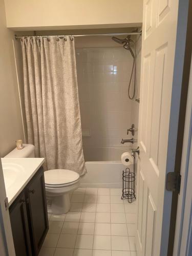
<svg viewBox="0 0 192 256">
<path fill-rule="evenodd" d="M 96 149 L 97 150 L 100 149 L 100 151 L 103 151 L 103 156 L 105 156 L 106 161 L 86 161 L 86 168 L 88 173 L 81 178 L 80 186 L 81 187 L 121 188 L 122 187 L 122 171 L 126 167 L 129 167 L 131 170 L 133 170 L 133 164 L 130 164 L 129 166 L 124 166 L 120 161 L 120 156 L 123 152 L 130 150 L 130 148 L 127 148 L 127 147 L 99 148 L 98 147 L 98 148 L 95 148 L 95 150 Z M 99 152 L 99 154 L 93 154 L 93 156 L 98 156 L 98 155 L 102 155 L 101 152 Z M 115 160 L 115 161 L 109 160 L 109 158 L 113 159 L 114 156 L 116 156 L 115 158 L 119 160 Z"/>
</svg>

